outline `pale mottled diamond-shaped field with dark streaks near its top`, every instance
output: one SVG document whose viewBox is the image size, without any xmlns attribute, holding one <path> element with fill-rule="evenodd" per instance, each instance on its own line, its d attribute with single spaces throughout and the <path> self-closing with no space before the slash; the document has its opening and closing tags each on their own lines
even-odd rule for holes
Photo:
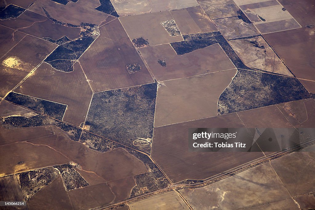
<svg viewBox="0 0 315 210">
<path fill-rule="evenodd" d="M 260 48 L 256 46 L 255 42 Z M 293 77 L 262 37 L 230 40 L 229 43 L 248 67 Z"/>
</svg>

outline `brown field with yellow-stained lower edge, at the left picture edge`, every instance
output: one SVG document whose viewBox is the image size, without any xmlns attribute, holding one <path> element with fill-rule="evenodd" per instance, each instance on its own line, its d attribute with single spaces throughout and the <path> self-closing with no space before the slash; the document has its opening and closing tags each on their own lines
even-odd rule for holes
<svg viewBox="0 0 315 210">
<path fill-rule="evenodd" d="M 54 136 L 37 138 L 53 140 Z M 6 159 L 0 159 L 0 176 L 20 173 L 32 169 L 43 168 L 63 163 L 69 159 L 45 145 L 32 145 L 27 142 L 17 142 L 0 146 L 0 153 Z"/>
</svg>

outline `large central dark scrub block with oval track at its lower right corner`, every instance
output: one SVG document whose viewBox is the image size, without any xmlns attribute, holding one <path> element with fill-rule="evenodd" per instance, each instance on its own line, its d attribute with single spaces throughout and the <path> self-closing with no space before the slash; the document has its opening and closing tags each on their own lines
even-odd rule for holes
<svg viewBox="0 0 315 210">
<path fill-rule="evenodd" d="M 132 144 L 137 137 L 152 139 L 156 91 L 151 83 L 96 93 L 85 124 L 92 133 L 139 149 Z"/>
</svg>

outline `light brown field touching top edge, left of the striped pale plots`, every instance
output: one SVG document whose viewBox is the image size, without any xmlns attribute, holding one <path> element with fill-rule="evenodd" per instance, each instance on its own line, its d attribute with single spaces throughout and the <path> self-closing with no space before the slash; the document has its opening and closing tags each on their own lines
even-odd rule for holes
<svg viewBox="0 0 315 210">
<path fill-rule="evenodd" d="M 198 0 L 200 6 L 211 19 L 235 17 L 238 15 L 238 6 L 233 0 Z"/>
</svg>

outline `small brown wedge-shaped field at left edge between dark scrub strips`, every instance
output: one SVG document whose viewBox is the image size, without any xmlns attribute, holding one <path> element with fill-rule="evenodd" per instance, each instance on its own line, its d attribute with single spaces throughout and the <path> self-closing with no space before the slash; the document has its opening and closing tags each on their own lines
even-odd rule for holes
<svg viewBox="0 0 315 210">
<path fill-rule="evenodd" d="M 5 100 L 0 102 L 0 117 L 8 116 L 32 117 L 35 115 L 37 115 L 37 113 L 30 111 L 28 109 L 24 109 L 20 106 L 11 104 Z"/>
</svg>

